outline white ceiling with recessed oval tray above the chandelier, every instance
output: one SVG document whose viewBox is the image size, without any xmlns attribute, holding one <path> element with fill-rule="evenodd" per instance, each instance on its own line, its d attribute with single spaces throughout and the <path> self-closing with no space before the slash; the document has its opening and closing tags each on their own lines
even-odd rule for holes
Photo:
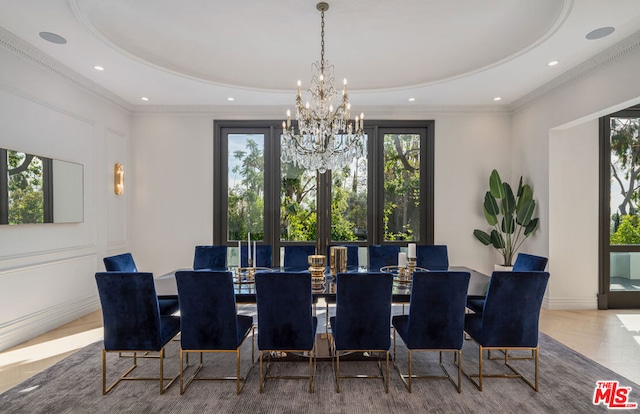
<svg viewBox="0 0 640 414">
<path fill-rule="evenodd" d="M 320 58 L 316 3 L 0 0 L 0 26 L 130 105 L 292 105 Z M 640 31 L 638 0 L 328 3 L 325 58 L 353 105 L 509 105 Z"/>
</svg>

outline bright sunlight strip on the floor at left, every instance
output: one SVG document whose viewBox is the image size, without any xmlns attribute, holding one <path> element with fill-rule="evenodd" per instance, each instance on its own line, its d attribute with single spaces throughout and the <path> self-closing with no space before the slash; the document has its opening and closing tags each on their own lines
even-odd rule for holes
<svg viewBox="0 0 640 414">
<path fill-rule="evenodd" d="M 75 351 L 102 338 L 102 328 L 68 335 L 63 338 L 45 341 L 37 345 L 26 346 L 13 351 L 0 353 L 0 371 L 15 364 L 26 364 L 67 352 Z"/>
</svg>

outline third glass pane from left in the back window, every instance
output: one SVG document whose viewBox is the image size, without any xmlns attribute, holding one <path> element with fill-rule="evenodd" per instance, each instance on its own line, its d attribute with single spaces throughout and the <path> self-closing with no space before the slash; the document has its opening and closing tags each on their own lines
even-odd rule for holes
<svg viewBox="0 0 640 414">
<path fill-rule="evenodd" d="M 367 240 L 367 157 L 332 171 L 331 179 L 331 240 Z"/>
</svg>

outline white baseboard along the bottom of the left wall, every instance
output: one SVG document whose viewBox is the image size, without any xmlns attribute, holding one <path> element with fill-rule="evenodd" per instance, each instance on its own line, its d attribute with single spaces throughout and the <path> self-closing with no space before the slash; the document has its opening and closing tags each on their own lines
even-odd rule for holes
<svg viewBox="0 0 640 414">
<path fill-rule="evenodd" d="M 61 303 L 0 325 L 0 351 L 100 309 L 98 296 Z"/>
</svg>

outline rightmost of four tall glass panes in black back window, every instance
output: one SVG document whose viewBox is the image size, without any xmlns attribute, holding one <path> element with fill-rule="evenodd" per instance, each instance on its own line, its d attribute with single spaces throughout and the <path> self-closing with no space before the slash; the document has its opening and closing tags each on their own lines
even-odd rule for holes
<svg viewBox="0 0 640 414">
<path fill-rule="evenodd" d="M 420 237 L 420 135 L 384 135 L 384 239 Z"/>
</svg>

